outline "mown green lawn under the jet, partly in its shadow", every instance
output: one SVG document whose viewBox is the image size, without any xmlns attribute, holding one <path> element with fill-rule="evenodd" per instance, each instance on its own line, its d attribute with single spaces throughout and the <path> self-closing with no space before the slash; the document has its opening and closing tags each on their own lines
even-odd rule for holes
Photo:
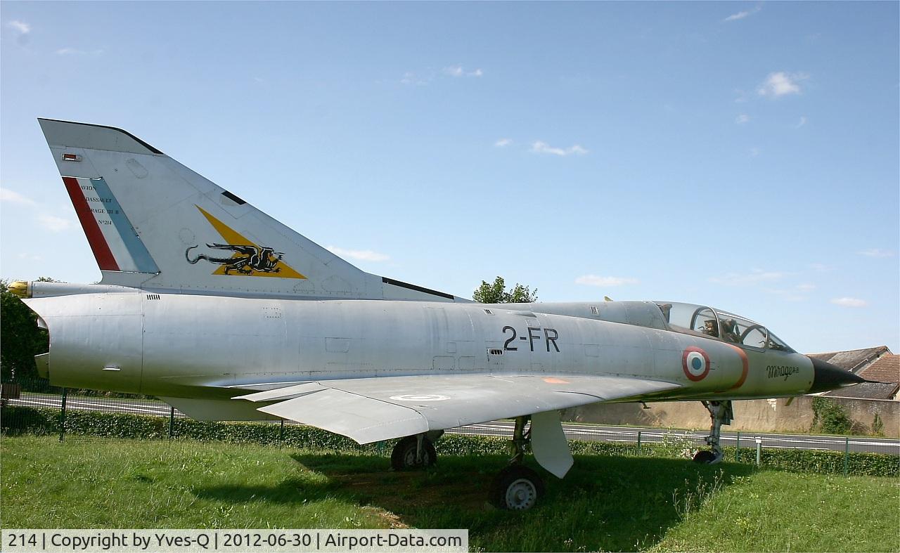
<svg viewBox="0 0 900 553">
<path fill-rule="evenodd" d="M 896 478 L 576 456 L 535 510 L 485 502 L 501 456 L 421 473 L 371 452 L 0 440 L 4 528 L 467 528 L 473 549 L 900 550 Z M 545 473 L 544 473 L 545 474 Z"/>
</svg>

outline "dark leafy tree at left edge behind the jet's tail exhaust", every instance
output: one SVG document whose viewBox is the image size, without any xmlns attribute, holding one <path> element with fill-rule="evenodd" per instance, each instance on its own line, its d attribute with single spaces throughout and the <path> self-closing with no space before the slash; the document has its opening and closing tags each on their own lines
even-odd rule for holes
<svg viewBox="0 0 900 553">
<path fill-rule="evenodd" d="M 49 349 L 47 331 L 38 328 L 38 316 L 7 290 L 8 285 L 0 280 L 0 376 L 4 382 L 37 379 L 34 356 Z"/>
</svg>

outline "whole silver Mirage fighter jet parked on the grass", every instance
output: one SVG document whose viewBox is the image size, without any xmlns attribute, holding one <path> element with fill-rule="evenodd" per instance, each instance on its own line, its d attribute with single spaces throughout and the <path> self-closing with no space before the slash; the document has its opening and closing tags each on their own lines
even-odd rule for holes
<svg viewBox="0 0 900 553">
<path fill-rule="evenodd" d="M 448 428 L 516 421 L 491 499 L 536 503 L 530 449 L 572 467 L 559 410 L 702 401 L 699 462 L 722 459 L 732 402 L 861 381 L 768 328 L 668 301 L 487 305 L 363 272 L 157 148 L 112 127 L 40 120 L 103 273 L 14 283 L 54 385 L 149 394 L 202 420 L 288 419 L 435 462 Z"/>
</svg>

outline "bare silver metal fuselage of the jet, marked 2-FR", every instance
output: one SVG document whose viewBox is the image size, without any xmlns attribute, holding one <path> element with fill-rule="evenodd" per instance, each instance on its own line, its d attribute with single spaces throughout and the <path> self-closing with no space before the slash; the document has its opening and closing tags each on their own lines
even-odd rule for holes
<svg viewBox="0 0 900 553">
<path fill-rule="evenodd" d="M 488 373 L 615 375 L 681 386 L 625 399 L 632 401 L 740 399 L 796 396 L 814 378 L 812 363 L 795 352 L 650 327 L 657 323 L 582 317 L 587 304 L 242 299 L 138 290 L 26 301 L 49 329 L 53 384 L 161 397 L 227 398 L 235 388 L 311 380 Z M 641 302 L 633 303 L 630 312 L 643 317 Z M 522 309 L 538 306 L 571 313 Z M 702 379 L 689 378 L 689 348 L 707 353 Z"/>
</svg>

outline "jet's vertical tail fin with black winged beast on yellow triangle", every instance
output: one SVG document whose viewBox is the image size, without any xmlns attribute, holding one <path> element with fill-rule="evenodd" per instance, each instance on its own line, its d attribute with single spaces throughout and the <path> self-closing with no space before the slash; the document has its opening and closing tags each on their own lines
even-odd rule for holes
<svg viewBox="0 0 900 553">
<path fill-rule="evenodd" d="M 40 119 L 103 284 L 229 296 L 454 296 L 361 271 L 113 127 Z"/>
</svg>

